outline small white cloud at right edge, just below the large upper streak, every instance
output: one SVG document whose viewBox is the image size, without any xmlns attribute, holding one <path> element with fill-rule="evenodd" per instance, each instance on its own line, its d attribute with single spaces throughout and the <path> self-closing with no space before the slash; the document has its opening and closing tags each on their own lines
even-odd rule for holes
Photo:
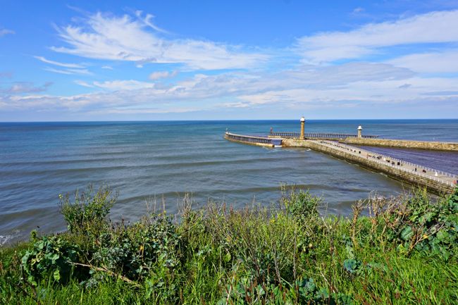
<svg viewBox="0 0 458 305">
<path fill-rule="evenodd" d="M 458 73 L 458 49 L 409 54 L 388 61 L 419 73 Z"/>
</svg>

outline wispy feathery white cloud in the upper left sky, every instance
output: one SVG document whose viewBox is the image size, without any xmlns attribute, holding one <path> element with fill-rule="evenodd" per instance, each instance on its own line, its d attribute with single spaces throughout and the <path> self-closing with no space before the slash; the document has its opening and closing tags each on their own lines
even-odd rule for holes
<svg viewBox="0 0 458 305">
<path fill-rule="evenodd" d="M 141 14 L 140 14 L 141 15 Z M 148 31 L 151 17 L 132 20 L 97 13 L 89 15 L 83 25 L 59 28 L 59 36 L 69 47 L 52 47 L 54 51 L 116 61 L 182 63 L 194 69 L 249 68 L 264 61 L 264 54 L 240 51 L 228 46 L 195 39 L 166 39 Z"/>
</svg>

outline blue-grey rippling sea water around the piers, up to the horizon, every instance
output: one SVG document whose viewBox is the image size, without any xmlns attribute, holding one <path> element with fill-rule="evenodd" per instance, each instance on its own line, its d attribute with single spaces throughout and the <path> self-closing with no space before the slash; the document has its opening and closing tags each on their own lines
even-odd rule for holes
<svg viewBox="0 0 458 305">
<path fill-rule="evenodd" d="M 393 139 L 458 142 L 458 120 L 311 120 L 306 132 L 356 133 Z M 354 201 L 407 187 L 357 165 L 307 149 L 267 149 L 228 142 L 231 132 L 266 135 L 299 131 L 299 120 L 0 123 L 0 244 L 30 230 L 58 232 L 66 225 L 58 194 L 108 184 L 119 192 L 111 218 L 133 221 L 154 200 L 178 211 L 189 193 L 194 206 L 213 200 L 236 208 L 276 204 L 280 185 L 323 197 L 323 213 L 348 215 Z M 458 173 L 458 154 L 373 149 Z"/>
</svg>

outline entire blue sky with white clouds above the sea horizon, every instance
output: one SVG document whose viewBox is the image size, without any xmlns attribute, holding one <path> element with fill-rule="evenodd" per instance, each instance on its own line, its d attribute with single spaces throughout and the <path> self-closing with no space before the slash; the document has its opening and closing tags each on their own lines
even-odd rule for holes
<svg viewBox="0 0 458 305">
<path fill-rule="evenodd" d="M 458 1 L 0 1 L 0 121 L 458 118 Z"/>
</svg>

